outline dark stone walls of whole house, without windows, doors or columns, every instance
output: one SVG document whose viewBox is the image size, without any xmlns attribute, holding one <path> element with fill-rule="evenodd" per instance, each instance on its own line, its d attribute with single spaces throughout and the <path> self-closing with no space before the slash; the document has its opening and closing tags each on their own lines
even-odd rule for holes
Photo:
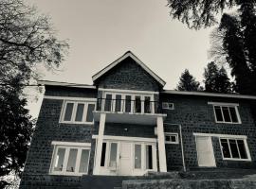
<svg viewBox="0 0 256 189">
<path fill-rule="evenodd" d="M 155 78 L 145 72 L 134 60 L 127 58 L 110 72 L 95 82 L 98 87 L 122 90 L 161 91 Z M 75 87 L 46 86 L 46 95 L 73 97 L 101 97 L 97 89 Z M 212 145 L 217 168 L 256 168 L 256 129 L 252 118 L 249 100 L 210 96 L 155 94 L 155 100 L 173 102 L 174 110 L 163 111 L 167 114 L 164 121 L 166 132 L 178 133 L 182 127 L 185 163 L 188 169 L 198 168 L 195 137 L 193 132 L 231 135 L 247 135 L 251 162 L 223 161 L 219 141 L 212 137 Z M 208 102 L 239 103 L 242 124 L 216 124 L 212 105 Z M 25 171 L 20 188 L 77 188 L 82 177 L 49 175 L 53 146 L 52 141 L 91 143 L 88 173 L 93 173 L 96 140 L 99 122 L 94 125 L 59 123 L 64 100 L 44 99 L 38 117 L 37 126 L 27 155 Z M 155 106 L 156 108 L 156 106 Z M 157 110 L 158 111 L 158 110 Z M 162 111 L 162 110 L 160 110 Z M 174 124 L 174 125 L 172 125 Z M 116 136 L 156 138 L 156 126 L 106 123 L 104 134 Z M 167 168 L 169 171 L 182 169 L 181 143 L 166 144 Z M 157 153 L 158 157 L 158 153 Z M 158 158 L 157 158 L 158 159 Z"/>
</svg>

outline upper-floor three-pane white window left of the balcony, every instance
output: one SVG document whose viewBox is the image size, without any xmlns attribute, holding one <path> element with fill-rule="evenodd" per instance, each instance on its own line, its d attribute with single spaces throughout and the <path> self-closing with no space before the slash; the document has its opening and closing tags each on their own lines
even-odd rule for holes
<svg viewBox="0 0 256 189">
<path fill-rule="evenodd" d="M 92 123 L 94 102 L 64 101 L 61 122 L 63 123 Z"/>
</svg>

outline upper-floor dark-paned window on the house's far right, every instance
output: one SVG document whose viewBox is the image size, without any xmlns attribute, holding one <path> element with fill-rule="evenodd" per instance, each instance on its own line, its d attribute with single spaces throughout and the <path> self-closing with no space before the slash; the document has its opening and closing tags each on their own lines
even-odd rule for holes
<svg viewBox="0 0 256 189">
<path fill-rule="evenodd" d="M 213 105 L 217 123 L 241 123 L 237 106 Z"/>
</svg>

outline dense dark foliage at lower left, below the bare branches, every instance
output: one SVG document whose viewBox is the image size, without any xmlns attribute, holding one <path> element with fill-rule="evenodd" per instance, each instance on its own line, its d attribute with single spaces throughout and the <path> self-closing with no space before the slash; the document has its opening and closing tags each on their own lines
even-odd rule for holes
<svg viewBox="0 0 256 189">
<path fill-rule="evenodd" d="M 12 170 L 17 174 L 21 172 L 34 125 L 25 108 L 27 100 L 20 97 L 22 88 L 18 89 L 18 82 L 16 79 L 12 86 L 0 88 L 0 177 Z M 6 185 L 7 182 L 2 180 L 1 184 Z"/>
</svg>

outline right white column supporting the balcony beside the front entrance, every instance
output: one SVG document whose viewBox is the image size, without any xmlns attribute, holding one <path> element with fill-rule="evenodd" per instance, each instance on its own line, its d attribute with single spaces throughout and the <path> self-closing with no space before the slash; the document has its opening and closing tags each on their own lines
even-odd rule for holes
<svg viewBox="0 0 256 189">
<path fill-rule="evenodd" d="M 163 117 L 157 117 L 157 141 L 160 172 L 167 172 Z"/>
</svg>

